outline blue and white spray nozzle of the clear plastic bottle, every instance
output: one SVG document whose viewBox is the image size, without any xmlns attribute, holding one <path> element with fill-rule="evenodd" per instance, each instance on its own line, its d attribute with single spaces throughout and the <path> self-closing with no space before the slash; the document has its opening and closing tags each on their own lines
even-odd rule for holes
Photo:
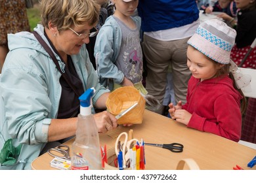
<svg viewBox="0 0 256 183">
<path fill-rule="evenodd" d="M 79 97 L 80 101 L 80 114 L 82 116 L 88 116 L 91 114 L 91 107 L 92 107 L 92 97 L 95 93 L 95 88 L 90 88 L 86 90 L 83 95 Z"/>
</svg>

